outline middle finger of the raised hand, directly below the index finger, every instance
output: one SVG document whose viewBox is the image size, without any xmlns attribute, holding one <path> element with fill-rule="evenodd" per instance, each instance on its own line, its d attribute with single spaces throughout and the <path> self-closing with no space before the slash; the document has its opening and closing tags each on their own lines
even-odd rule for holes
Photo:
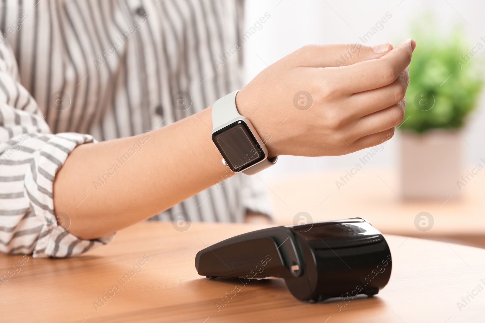
<svg viewBox="0 0 485 323">
<path fill-rule="evenodd" d="M 352 110 L 349 113 L 356 118 L 362 118 L 395 105 L 404 99 L 408 84 L 409 73 L 406 67 L 404 72 L 391 84 L 351 95 L 348 99 L 348 107 Z"/>
</svg>

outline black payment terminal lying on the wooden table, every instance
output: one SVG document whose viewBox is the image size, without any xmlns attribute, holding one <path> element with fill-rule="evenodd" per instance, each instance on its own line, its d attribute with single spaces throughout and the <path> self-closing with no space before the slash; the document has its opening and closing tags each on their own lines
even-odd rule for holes
<svg viewBox="0 0 485 323">
<path fill-rule="evenodd" d="M 199 251 L 195 268 L 210 278 L 283 278 L 294 297 L 315 302 L 376 294 L 392 263 L 383 235 L 351 218 L 244 233 Z"/>
</svg>

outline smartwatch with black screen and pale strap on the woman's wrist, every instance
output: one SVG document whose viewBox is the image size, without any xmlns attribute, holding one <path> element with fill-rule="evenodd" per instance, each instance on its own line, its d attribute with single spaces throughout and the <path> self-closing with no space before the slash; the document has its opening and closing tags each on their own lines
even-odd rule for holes
<svg viewBox="0 0 485 323">
<path fill-rule="evenodd" d="M 212 141 L 222 155 L 222 163 L 233 172 L 254 175 L 275 165 L 278 156 L 268 158 L 268 150 L 251 122 L 236 108 L 234 91 L 212 106 Z"/>
</svg>

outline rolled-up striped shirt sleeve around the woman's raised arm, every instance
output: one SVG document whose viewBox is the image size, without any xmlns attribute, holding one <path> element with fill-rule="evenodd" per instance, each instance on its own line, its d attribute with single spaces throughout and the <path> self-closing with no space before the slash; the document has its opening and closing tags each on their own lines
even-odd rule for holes
<svg viewBox="0 0 485 323">
<path fill-rule="evenodd" d="M 113 239 L 110 234 L 81 240 L 60 226 L 69 216 L 54 212 L 56 173 L 74 148 L 89 142 L 89 135 L 51 133 L 35 100 L 18 82 L 12 50 L 0 44 L 1 252 L 69 257 Z"/>
</svg>

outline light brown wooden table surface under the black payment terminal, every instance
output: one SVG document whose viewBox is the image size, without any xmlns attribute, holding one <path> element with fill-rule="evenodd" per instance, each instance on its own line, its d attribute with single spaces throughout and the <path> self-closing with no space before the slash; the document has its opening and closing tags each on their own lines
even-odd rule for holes
<svg viewBox="0 0 485 323">
<path fill-rule="evenodd" d="M 348 304 L 338 299 L 309 304 L 291 296 L 282 280 L 254 280 L 218 311 L 219 297 L 241 283 L 198 276 L 195 254 L 205 246 L 262 227 L 193 223 L 188 231 L 179 232 L 171 223 L 144 222 L 120 231 L 112 244 L 80 257 L 0 255 L 1 275 L 25 259 L 16 267 L 20 271 L 0 286 L 0 322 L 484 320 L 484 249 L 393 235 L 386 235 L 392 253 L 391 279 L 376 297 Z M 140 260 L 143 266 L 135 266 L 136 271 L 130 273 Z M 121 285 L 118 280 L 125 274 L 132 276 Z M 112 296 L 102 304 L 98 297 L 104 292 Z M 459 308 L 457 302 L 463 306 Z"/>
</svg>

